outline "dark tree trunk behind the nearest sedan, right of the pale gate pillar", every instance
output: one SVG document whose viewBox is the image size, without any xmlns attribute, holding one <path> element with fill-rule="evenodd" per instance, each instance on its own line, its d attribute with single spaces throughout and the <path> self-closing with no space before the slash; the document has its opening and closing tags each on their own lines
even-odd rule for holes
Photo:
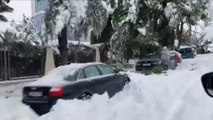
<svg viewBox="0 0 213 120">
<path fill-rule="evenodd" d="M 68 62 L 68 48 L 67 48 L 67 27 L 65 26 L 61 34 L 58 35 L 59 51 L 60 51 L 60 65 L 66 65 Z"/>
</svg>

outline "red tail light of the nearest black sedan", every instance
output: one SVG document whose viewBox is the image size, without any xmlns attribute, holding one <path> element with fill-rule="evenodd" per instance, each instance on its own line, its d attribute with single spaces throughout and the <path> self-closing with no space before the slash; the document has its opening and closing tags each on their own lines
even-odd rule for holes
<svg viewBox="0 0 213 120">
<path fill-rule="evenodd" d="M 49 97 L 61 97 L 63 96 L 64 88 L 63 87 L 52 87 L 49 91 Z"/>
</svg>

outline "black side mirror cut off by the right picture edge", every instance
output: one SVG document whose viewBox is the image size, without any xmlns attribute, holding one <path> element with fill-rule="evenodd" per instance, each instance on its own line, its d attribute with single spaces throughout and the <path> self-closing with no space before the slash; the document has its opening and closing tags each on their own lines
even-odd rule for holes
<svg viewBox="0 0 213 120">
<path fill-rule="evenodd" d="M 202 81 L 205 92 L 210 97 L 213 97 L 213 72 L 204 74 L 201 77 L 201 81 Z"/>
</svg>

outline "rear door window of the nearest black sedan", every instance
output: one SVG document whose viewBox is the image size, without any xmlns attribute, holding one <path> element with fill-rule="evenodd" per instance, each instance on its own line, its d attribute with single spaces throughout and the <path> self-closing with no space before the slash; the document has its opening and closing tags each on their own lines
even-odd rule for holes
<svg viewBox="0 0 213 120">
<path fill-rule="evenodd" d="M 89 66 L 89 67 L 84 68 L 84 73 L 85 73 L 86 78 L 101 75 L 96 66 Z"/>
</svg>

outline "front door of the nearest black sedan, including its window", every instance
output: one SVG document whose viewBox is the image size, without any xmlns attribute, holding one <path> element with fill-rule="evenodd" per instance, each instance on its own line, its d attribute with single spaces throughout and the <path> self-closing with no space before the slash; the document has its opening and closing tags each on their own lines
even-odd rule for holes
<svg viewBox="0 0 213 120">
<path fill-rule="evenodd" d="M 105 81 L 104 88 L 109 97 L 123 89 L 125 81 L 122 75 L 115 74 L 114 70 L 107 65 L 97 65 L 97 67 L 103 76 L 102 79 Z"/>
</svg>

